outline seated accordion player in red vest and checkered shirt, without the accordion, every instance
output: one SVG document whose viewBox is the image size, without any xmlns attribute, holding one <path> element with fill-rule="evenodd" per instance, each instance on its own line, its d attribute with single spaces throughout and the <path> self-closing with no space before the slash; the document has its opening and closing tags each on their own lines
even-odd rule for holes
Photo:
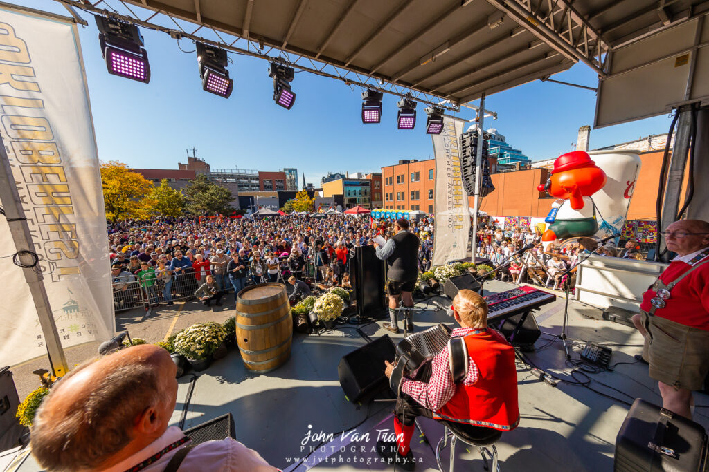
<svg viewBox="0 0 709 472">
<path fill-rule="evenodd" d="M 459 422 L 476 431 L 510 431 L 520 421 L 515 351 L 500 333 L 488 328 L 485 299 L 462 289 L 453 299 L 452 309 L 461 327 L 455 328 L 451 336 L 464 338 L 469 357 L 467 375 L 454 383 L 450 352 L 444 349 L 432 359 L 428 383 L 403 378 L 394 409 L 396 442 L 376 443 L 380 456 L 404 470 L 413 470 L 409 443 L 418 416 Z M 393 365 L 388 361 L 385 365 L 389 377 Z"/>
</svg>

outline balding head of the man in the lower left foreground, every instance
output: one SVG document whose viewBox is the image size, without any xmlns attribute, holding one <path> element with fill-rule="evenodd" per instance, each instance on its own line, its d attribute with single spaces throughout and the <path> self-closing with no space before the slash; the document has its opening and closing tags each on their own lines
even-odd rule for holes
<svg viewBox="0 0 709 472">
<path fill-rule="evenodd" d="M 174 410 L 175 369 L 167 351 L 155 345 L 128 347 L 80 365 L 40 406 L 33 454 L 50 471 L 80 471 L 110 465 L 129 444 L 147 446 L 167 429 Z M 137 427 L 151 420 L 143 418 L 146 412 L 155 422 L 150 434 Z"/>
</svg>

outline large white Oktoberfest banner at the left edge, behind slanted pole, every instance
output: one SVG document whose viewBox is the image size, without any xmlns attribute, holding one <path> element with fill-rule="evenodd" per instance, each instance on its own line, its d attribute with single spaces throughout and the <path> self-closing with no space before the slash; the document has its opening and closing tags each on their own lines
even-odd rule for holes
<svg viewBox="0 0 709 472">
<path fill-rule="evenodd" d="M 114 331 L 106 215 L 79 35 L 56 16 L 0 6 L 0 133 L 62 346 Z M 1 256 L 14 251 L 0 217 Z M 47 354 L 30 290 L 0 258 L 0 365 Z"/>
</svg>

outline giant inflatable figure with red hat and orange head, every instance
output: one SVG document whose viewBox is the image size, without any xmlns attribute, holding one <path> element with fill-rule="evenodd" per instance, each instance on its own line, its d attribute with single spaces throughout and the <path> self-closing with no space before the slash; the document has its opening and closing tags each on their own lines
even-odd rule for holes
<svg viewBox="0 0 709 472">
<path fill-rule="evenodd" d="M 591 195 L 603 188 L 605 180 L 605 172 L 584 151 L 569 152 L 554 161 L 546 185 L 537 187 L 540 192 L 546 190 L 559 199 L 546 219 L 551 225 L 542 236 L 545 248 L 555 241 L 592 236 L 598 231 L 596 205 Z"/>
</svg>

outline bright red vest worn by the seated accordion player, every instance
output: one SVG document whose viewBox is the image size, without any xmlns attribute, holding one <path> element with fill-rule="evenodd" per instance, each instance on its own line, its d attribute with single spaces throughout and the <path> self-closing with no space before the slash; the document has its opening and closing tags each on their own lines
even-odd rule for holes
<svg viewBox="0 0 709 472">
<path fill-rule="evenodd" d="M 520 422 L 515 350 L 497 333 L 467 335 L 468 355 L 478 367 L 478 381 L 459 383 L 453 398 L 433 418 L 510 431 Z"/>
</svg>

